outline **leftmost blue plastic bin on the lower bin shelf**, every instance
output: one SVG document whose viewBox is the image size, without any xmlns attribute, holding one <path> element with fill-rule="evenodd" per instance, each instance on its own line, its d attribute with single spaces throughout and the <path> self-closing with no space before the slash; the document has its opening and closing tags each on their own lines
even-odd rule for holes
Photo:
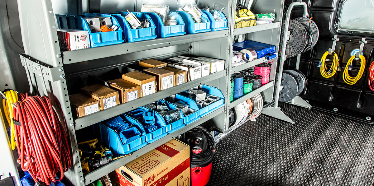
<svg viewBox="0 0 374 186">
<path fill-rule="evenodd" d="M 98 127 L 96 136 L 110 148 L 114 156 L 129 154 L 147 145 L 142 125 L 124 114 L 100 122 Z"/>
</svg>

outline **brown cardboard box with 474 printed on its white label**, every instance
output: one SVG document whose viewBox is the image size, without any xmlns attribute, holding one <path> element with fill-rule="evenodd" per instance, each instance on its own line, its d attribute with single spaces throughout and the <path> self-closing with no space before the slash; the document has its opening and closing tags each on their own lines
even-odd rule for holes
<svg viewBox="0 0 374 186">
<path fill-rule="evenodd" d="M 141 97 L 156 92 L 156 77 L 144 74 L 143 72 L 134 71 L 122 74 L 122 79 L 140 85 Z"/>
</svg>

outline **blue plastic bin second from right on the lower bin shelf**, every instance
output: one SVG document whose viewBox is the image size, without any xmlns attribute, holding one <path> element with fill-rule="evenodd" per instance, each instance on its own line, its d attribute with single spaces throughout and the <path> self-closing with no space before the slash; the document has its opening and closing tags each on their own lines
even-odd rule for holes
<svg viewBox="0 0 374 186">
<path fill-rule="evenodd" d="M 196 102 L 194 102 L 194 100 L 192 100 L 189 97 L 182 96 L 180 94 L 175 94 L 175 102 L 178 101 L 182 101 L 186 103 L 188 106 L 190 106 L 187 115 L 184 114 L 184 124 L 188 125 L 200 119 L 199 108 L 197 107 Z"/>
</svg>

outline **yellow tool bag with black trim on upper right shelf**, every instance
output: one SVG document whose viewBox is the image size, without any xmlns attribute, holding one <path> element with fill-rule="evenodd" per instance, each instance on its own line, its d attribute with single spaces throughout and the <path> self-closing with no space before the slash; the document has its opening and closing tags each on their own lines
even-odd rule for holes
<svg viewBox="0 0 374 186">
<path fill-rule="evenodd" d="M 235 10 L 235 28 L 250 27 L 256 25 L 256 17 L 242 4 L 236 5 Z"/>
</svg>

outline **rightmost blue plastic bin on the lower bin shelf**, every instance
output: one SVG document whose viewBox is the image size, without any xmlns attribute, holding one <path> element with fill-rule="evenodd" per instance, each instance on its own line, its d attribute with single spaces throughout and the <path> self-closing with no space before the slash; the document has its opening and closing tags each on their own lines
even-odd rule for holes
<svg viewBox="0 0 374 186">
<path fill-rule="evenodd" d="M 208 85 L 202 85 L 201 90 L 206 92 L 207 94 L 211 94 L 212 96 L 221 98 L 221 99 L 201 108 L 200 109 L 200 116 L 201 117 L 217 110 L 218 108 L 220 108 L 222 106 L 225 106 L 225 97 L 223 96 L 223 93 L 221 92 L 220 89 L 217 89 L 216 87 L 211 87 L 211 86 L 208 86 Z"/>
</svg>

